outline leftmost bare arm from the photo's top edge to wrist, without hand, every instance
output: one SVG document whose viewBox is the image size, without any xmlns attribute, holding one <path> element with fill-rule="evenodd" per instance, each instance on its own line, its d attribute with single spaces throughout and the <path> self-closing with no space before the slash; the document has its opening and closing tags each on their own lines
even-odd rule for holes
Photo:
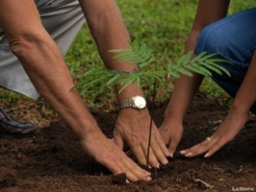
<svg viewBox="0 0 256 192">
<path fill-rule="evenodd" d="M 80 136 L 94 131 L 97 124 L 78 93 L 71 91 L 74 83 L 69 70 L 58 46 L 43 27 L 35 2 L 1 1 L 0 24 L 12 52 L 45 101 Z"/>
</svg>

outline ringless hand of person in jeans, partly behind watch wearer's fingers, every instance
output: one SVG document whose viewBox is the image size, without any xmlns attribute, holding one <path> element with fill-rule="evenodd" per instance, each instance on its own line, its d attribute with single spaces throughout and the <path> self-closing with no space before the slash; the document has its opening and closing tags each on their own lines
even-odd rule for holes
<svg viewBox="0 0 256 192">
<path fill-rule="evenodd" d="M 179 145 L 183 134 L 182 122 L 168 119 L 164 121 L 159 127 L 159 132 L 164 140 L 165 145 L 168 146 L 170 157 L 173 157 L 177 145 Z"/>
</svg>

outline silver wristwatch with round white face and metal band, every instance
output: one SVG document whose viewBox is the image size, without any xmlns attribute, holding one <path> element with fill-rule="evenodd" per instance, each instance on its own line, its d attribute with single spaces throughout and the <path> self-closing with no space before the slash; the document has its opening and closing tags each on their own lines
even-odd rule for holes
<svg viewBox="0 0 256 192">
<path fill-rule="evenodd" d="M 141 110 L 146 108 L 146 99 L 143 96 L 134 96 L 131 99 L 120 101 L 119 109 L 133 107 Z"/>
</svg>

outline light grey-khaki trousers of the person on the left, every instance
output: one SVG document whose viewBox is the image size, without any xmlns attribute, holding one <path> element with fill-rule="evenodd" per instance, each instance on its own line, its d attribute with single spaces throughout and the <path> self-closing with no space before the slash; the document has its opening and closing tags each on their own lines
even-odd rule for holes
<svg viewBox="0 0 256 192">
<path fill-rule="evenodd" d="M 79 2 L 76 0 L 35 0 L 35 4 L 45 29 L 65 55 L 85 22 Z M 4 31 L 0 26 L 0 35 L 3 34 Z M 0 86 L 35 100 L 40 97 L 21 63 L 10 50 L 5 37 L 0 37 Z"/>
</svg>

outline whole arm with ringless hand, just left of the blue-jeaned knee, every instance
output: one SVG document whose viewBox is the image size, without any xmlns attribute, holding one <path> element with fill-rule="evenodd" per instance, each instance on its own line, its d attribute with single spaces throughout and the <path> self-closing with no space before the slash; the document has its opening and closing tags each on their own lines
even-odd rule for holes
<svg viewBox="0 0 256 192">
<path fill-rule="evenodd" d="M 196 39 L 204 27 L 226 17 L 228 7 L 229 0 L 199 1 L 198 11 L 186 43 L 185 53 L 195 49 Z M 182 137 L 182 120 L 185 112 L 196 91 L 198 91 L 200 83 L 203 81 L 203 76 L 198 73 L 192 73 L 192 78 L 181 75 L 175 82 L 175 88 L 164 113 L 164 122 L 160 127 L 164 142 L 169 145 L 169 151 L 172 153 L 175 152 Z"/>
</svg>

